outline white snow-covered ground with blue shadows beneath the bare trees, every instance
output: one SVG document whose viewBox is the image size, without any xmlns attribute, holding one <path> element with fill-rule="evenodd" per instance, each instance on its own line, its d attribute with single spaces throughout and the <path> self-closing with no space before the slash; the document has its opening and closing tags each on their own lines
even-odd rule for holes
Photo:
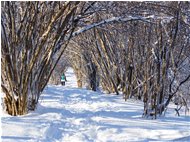
<svg viewBox="0 0 190 142">
<path fill-rule="evenodd" d="M 40 105 L 26 116 L 2 113 L 3 142 L 190 141 L 190 116 L 142 118 L 142 103 L 76 88 L 70 69 L 66 86 L 49 85 Z"/>
</svg>

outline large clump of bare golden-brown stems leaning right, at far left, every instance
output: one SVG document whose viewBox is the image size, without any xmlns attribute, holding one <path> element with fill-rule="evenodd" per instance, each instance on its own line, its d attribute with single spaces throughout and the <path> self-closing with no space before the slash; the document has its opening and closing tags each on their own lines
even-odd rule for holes
<svg viewBox="0 0 190 142">
<path fill-rule="evenodd" d="M 9 114 L 35 109 L 76 28 L 77 15 L 86 8 L 80 2 L 2 3 L 1 87 Z"/>
</svg>

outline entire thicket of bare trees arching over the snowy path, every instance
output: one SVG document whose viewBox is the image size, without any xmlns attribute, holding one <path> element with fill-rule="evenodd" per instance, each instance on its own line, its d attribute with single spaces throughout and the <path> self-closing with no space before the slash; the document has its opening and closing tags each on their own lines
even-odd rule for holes
<svg viewBox="0 0 190 142">
<path fill-rule="evenodd" d="M 143 102 L 145 118 L 190 106 L 190 2 L 1 2 L 2 104 L 35 111 L 73 68 L 79 88 Z"/>
</svg>

